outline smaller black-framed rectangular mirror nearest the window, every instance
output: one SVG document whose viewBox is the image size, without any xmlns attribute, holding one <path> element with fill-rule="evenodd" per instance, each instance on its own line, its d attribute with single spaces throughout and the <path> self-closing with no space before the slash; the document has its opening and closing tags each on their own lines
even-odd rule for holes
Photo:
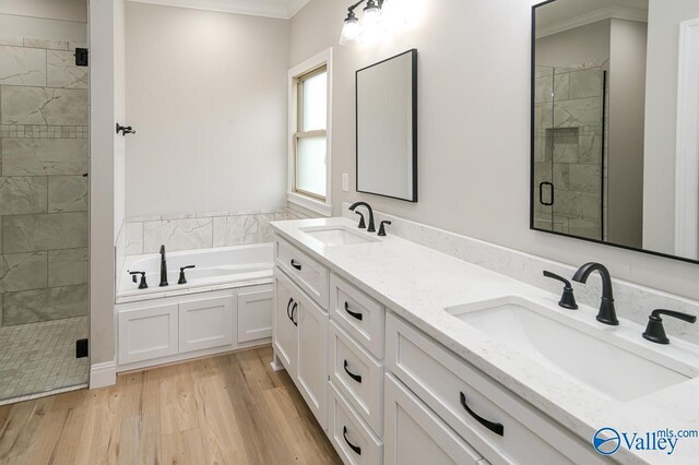
<svg viewBox="0 0 699 465">
<path fill-rule="evenodd" d="M 357 71 L 357 192 L 417 202 L 417 50 Z"/>
</svg>

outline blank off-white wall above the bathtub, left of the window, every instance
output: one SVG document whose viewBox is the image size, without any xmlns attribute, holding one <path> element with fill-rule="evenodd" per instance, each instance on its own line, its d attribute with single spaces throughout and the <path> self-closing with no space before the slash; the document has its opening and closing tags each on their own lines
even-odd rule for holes
<svg viewBox="0 0 699 465">
<path fill-rule="evenodd" d="M 127 3 L 127 214 L 285 206 L 289 22 Z"/>
</svg>

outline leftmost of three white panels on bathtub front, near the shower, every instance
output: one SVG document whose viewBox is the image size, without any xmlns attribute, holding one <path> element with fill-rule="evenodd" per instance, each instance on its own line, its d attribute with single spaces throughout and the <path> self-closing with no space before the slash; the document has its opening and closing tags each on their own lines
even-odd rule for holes
<svg viewBox="0 0 699 465">
<path fill-rule="evenodd" d="M 177 354 L 177 303 L 119 312 L 119 363 Z"/>
</svg>

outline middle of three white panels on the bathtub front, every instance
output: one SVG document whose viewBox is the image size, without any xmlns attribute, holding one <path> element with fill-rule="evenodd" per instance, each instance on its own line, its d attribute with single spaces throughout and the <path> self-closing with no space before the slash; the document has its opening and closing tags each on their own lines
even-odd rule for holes
<svg viewBox="0 0 699 465">
<path fill-rule="evenodd" d="M 233 297 L 179 305 L 179 351 L 233 345 Z"/>
</svg>

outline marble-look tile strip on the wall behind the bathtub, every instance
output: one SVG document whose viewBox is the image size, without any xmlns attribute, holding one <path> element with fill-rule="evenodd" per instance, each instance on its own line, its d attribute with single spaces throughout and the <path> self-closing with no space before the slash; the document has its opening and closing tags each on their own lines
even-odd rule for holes
<svg viewBox="0 0 699 465">
<path fill-rule="evenodd" d="M 270 223 L 305 215 L 291 208 L 199 214 L 153 215 L 128 218 L 126 254 L 210 249 L 272 241 Z"/>
</svg>

